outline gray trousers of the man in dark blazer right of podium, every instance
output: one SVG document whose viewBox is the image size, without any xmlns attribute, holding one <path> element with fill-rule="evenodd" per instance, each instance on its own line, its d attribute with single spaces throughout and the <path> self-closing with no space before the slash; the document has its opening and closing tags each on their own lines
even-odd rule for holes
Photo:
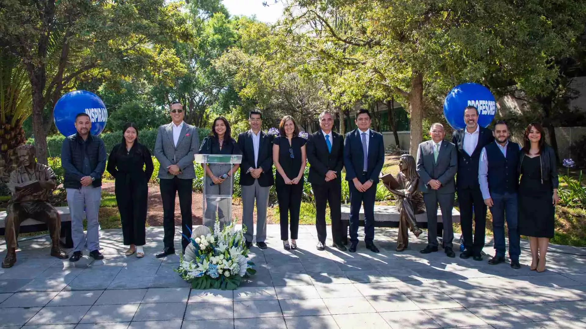
<svg viewBox="0 0 586 329">
<path fill-rule="evenodd" d="M 258 179 L 250 186 L 242 186 L 242 225 L 246 226 L 244 238 L 253 242 L 254 236 L 254 200 L 257 205 L 257 242 L 264 242 L 267 238 L 267 207 L 268 191 L 270 186 L 258 185 Z"/>
</svg>

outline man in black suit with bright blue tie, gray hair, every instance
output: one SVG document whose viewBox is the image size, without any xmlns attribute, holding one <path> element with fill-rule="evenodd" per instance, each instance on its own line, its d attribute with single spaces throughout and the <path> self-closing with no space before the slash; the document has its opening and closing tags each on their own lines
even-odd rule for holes
<svg viewBox="0 0 586 329">
<path fill-rule="evenodd" d="M 340 251 L 346 247 L 342 237 L 347 229 L 342 225 L 340 194 L 342 194 L 342 167 L 344 166 L 344 138 L 332 131 L 333 115 L 324 111 L 319 115 L 318 132 L 309 135 L 307 160 L 309 161 L 309 183 L 315 197 L 315 227 L 318 231 L 318 250 L 326 243 L 326 203 L 330 207 L 333 246 Z"/>
</svg>

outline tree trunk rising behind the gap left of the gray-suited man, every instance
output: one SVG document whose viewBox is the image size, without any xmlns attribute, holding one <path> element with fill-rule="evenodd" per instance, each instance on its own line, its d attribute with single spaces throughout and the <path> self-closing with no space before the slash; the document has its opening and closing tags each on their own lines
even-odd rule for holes
<svg viewBox="0 0 586 329">
<path fill-rule="evenodd" d="M 410 128 L 411 128 L 411 145 L 409 147 L 410 155 L 417 155 L 417 148 L 423 139 L 423 74 L 413 71 L 411 73 L 411 92 L 409 92 L 409 110 Z"/>
</svg>

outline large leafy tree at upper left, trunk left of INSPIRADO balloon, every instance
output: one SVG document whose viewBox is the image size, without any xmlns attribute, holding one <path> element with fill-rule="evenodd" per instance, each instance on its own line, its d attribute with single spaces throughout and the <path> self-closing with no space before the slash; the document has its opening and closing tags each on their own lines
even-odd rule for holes
<svg viewBox="0 0 586 329">
<path fill-rule="evenodd" d="M 41 163 L 52 125 L 52 115 L 43 118 L 47 104 L 87 74 L 138 74 L 161 65 L 154 71 L 164 78 L 172 73 L 169 67 L 179 66 L 165 44 L 189 37 L 179 4 L 164 0 L 4 0 L 0 22 L 0 46 L 20 59 L 28 74 Z"/>
</svg>

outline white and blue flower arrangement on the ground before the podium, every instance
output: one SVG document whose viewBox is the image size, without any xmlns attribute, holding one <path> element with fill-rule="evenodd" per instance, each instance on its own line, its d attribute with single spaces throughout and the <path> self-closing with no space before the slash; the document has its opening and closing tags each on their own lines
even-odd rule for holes
<svg viewBox="0 0 586 329">
<path fill-rule="evenodd" d="M 233 231 L 236 222 L 220 230 L 220 222 L 214 224 L 214 231 L 195 237 L 185 248 L 185 256 L 179 257 L 179 273 L 183 280 L 191 283 L 193 289 L 233 290 L 241 280 L 254 275 L 254 263 L 249 262 L 243 231 Z M 243 228 L 246 231 L 246 228 Z"/>
</svg>

